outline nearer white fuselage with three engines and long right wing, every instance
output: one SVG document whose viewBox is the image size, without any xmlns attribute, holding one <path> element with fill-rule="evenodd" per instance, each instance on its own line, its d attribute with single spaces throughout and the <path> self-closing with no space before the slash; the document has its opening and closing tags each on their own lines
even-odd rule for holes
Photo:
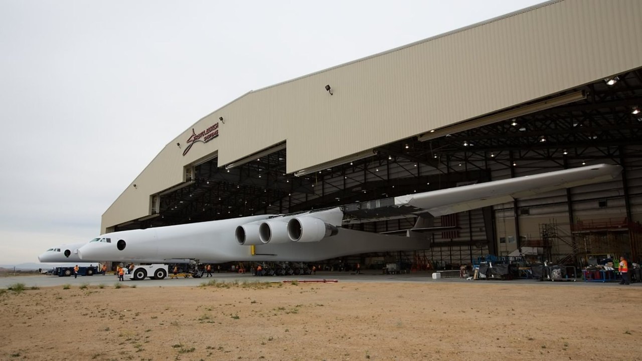
<svg viewBox="0 0 642 361">
<path fill-rule="evenodd" d="M 618 177 L 620 166 L 598 164 L 415 193 L 360 204 L 372 213 L 395 209 L 419 215 L 406 237 L 342 228 L 352 206 L 290 215 L 256 215 L 193 224 L 119 231 L 98 236 L 78 249 L 83 261 L 177 259 L 226 261 L 320 261 L 365 252 L 426 249 L 418 236 L 426 216 L 441 216 Z M 429 214 L 429 215 L 428 215 Z"/>
</svg>

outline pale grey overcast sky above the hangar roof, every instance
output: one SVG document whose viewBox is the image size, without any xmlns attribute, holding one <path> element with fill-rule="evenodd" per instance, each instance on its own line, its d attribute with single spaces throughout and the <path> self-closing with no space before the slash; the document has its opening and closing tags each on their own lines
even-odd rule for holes
<svg viewBox="0 0 642 361">
<path fill-rule="evenodd" d="M 0 264 L 89 241 L 163 146 L 252 89 L 541 0 L 0 0 Z"/>
</svg>

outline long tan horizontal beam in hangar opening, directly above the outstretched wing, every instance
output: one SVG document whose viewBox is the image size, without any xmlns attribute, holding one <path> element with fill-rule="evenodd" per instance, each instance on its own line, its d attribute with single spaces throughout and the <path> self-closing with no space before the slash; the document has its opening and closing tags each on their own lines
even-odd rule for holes
<svg viewBox="0 0 642 361">
<path fill-rule="evenodd" d="M 554 107 L 559 107 L 560 105 L 573 103 L 574 101 L 586 99 L 586 93 L 583 91 L 571 92 L 570 94 L 558 96 L 557 98 L 551 98 L 548 100 L 542 100 L 537 103 L 532 103 L 528 105 L 523 105 L 515 109 L 506 110 L 505 112 L 499 112 L 497 114 L 492 114 L 490 116 L 483 116 L 481 118 L 470 119 L 467 121 L 462 121 L 447 127 L 438 129 L 435 132 L 428 132 L 422 134 L 417 139 L 419 141 L 429 141 L 431 139 L 436 139 L 438 137 L 447 136 L 447 134 L 453 134 L 458 132 L 463 132 L 464 130 L 470 130 L 483 125 L 489 125 L 492 123 L 497 123 L 498 121 L 505 121 L 508 119 L 519 118 L 525 116 L 526 114 L 531 114 L 534 112 L 539 112 L 540 110 L 551 109 Z"/>
</svg>

